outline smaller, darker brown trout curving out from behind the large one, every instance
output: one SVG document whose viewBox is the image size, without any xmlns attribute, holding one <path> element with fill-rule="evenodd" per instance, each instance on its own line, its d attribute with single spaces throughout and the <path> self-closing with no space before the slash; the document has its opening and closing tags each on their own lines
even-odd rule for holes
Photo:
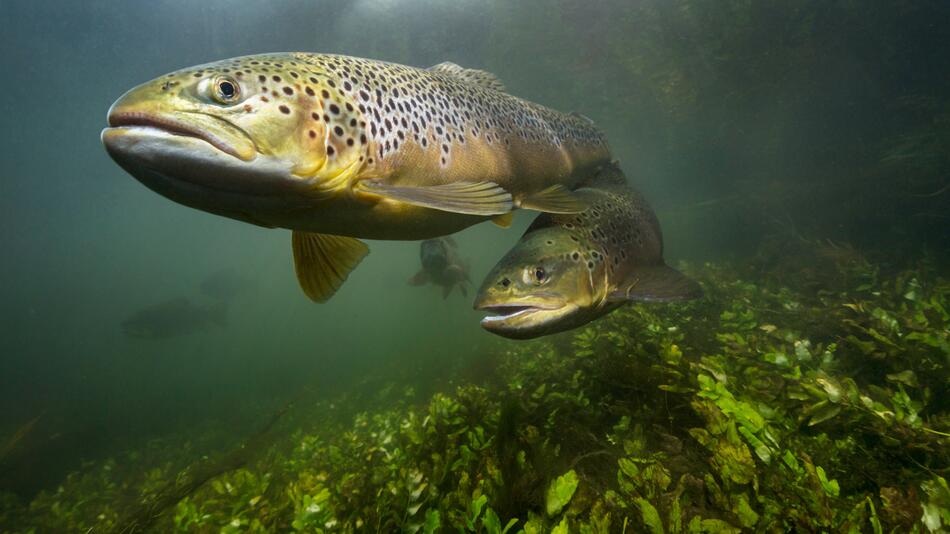
<svg viewBox="0 0 950 534">
<path fill-rule="evenodd" d="M 577 328 L 624 303 L 697 298 L 663 262 L 660 224 L 615 164 L 575 191 L 590 206 L 543 213 L 485 278 L 475 308 L 494 334 L 529 339 Z"/>
</svg>

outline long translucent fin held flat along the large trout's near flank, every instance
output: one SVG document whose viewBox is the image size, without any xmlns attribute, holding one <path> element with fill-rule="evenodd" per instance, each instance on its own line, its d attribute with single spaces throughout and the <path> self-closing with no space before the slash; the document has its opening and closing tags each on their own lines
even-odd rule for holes
<svg viewBox="0 0 950 534">
<path fill-rule="evenodd" d="M 363 190 L 415 206 L 466 215 L 491 217 L 512 210 L 511 194 L 494 182 L 456 182 L 432 186 L 392 185 L 378 180 L 361 182 Z"/>
</svg>

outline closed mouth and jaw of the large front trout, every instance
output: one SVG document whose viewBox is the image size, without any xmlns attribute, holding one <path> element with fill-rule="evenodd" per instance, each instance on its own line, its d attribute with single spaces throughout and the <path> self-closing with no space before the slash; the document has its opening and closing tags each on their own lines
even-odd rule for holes
<svg viewBox="0 0 950 534">
<path fill-rule="evenodd" d="M 109 128 L 103 134 L 113 129 L 147 134 L 151 129 L 156 133 L 200 139 L 242 161 L 250 161 L 257 155 L 257 145 L 240 128 L 213 115 L 205 113 L 192 115 L 200 117 L 200 123 L 147 111 L 122 111 L 113 108 L 109 110 Z"/>
</svg>

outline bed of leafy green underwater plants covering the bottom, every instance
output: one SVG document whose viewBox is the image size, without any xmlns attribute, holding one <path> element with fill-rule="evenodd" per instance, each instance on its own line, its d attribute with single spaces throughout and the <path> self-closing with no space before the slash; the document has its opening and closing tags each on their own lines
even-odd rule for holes
<svg viewBox="0 0 950 534">
<path fill-rule="evenodd" d="M 829 265 L 817 282 L 773 269 L 758 284 L 734 265 L 687 268 L 706 289 L 700 301 L 499 340 L 486 355 L 493 374 L 431 395 L 390 381 L 299 399 L 267 440 L 237 449 L 241 462 L 232 452 L 189 465 L 200 453 L 180 436 L 153 441 L 32 502 L 4 496 L 0 524 L 946 532 L 950 280 L 927 261 L 888 275 L 863 260 Z M 229 461 L 164 511 L 149 508 Z M 137 506 L 147 521 L 130 519 Z"/>
</svg>

